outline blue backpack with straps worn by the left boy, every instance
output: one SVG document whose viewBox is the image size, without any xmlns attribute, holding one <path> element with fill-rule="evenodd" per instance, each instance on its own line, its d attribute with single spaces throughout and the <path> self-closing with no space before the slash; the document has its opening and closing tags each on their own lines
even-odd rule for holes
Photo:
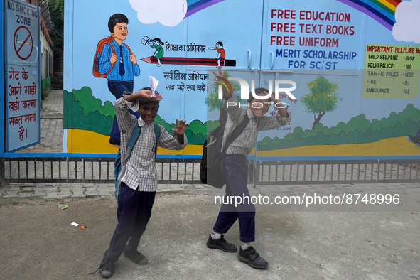
<svg viewBox="0 0 420 280">
<path fill-rule="evenodd" d="M 158 151 L 158 143 L 159 143 L 159 137 L 161 136 L 161 129 L 159 128 L 158 124 L 154 125 L 154 131 L 156 134 L 156 145 L 155 145 L 155 158 L 156 158 L 156 153 Z M 141 132 L 141 127 L 139 125 L 136 124 L 136 126 L 134 126 L 133 132 L 131 133 L 129 142 L 127 143 L 126 146 L 126 160 L 128 161 L 130 156 L 131 156 L 131 151 L 133 150 L 134 144 L 136 144 L 137 139 L 139 139 L 140 136 L 140 132 Z M 118 179 L 118 176 L 120 173 L 125 173 L 125 166 L 124 168 L 122 168 L 122 163 L 121 163 L 121 147 L 118 149 L 118 153 L 117 156 L 115 157 L 115 162 L 114 162 L 114 183 L 115 183 L 115 198 L 117 198 L 117 202 L 119 201 L 119 194 L 120 194 L 120 185 L 121 185 L 121 180 Z"/>
</svg>

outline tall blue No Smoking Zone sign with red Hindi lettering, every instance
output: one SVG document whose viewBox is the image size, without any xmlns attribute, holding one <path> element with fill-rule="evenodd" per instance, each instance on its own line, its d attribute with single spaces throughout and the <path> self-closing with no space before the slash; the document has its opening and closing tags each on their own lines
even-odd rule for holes
<svg viewBox="0 0 420 280">
<path fill-rule="evenodd" d="M 39 7 L 6 1 L 6 151 L 40 142 Z"/>
</svg>

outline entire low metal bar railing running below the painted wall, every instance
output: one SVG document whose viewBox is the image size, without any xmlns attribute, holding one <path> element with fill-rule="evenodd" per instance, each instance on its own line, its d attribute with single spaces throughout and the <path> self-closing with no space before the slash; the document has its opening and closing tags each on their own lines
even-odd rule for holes
<svg viewBox="0 0 420 280">
<path fill-rule="evenodd" d="M 159 183 L 200 183 L 200 159 L 157 158 Z M 112 183 L 114 158 L 0 158 L 0 180 L 9 183 Z M 249 183 L 420 182 L 420 160 L 250 161 Z"/>
</svg>

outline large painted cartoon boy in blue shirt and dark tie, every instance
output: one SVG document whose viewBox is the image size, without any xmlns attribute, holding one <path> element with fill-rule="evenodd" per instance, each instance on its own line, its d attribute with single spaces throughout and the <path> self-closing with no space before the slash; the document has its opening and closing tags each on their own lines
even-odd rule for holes
<svg viewBox="0 0 420 280">
<path fill-rule="evenodd" d="M 105 74 L 111 69 L 107 74 L 108 89 L 115 99 L 121 98 L 125 91 L 133 92 L 134 76 L 140 75 L 136 55 L 131 53 L 126 44 L 122 43 L 129 32 L 128 23 L 129 19 L 124 14 L 113 14 L 109 18 L 108 28 L 114 40 L 104 45 L 99 59 L 99 72 L 101 74 Z M 112 44 L 112 47 L 109 44 Z M 115 53 L 112 48 L 114 48 Z M 113 145 L 119 145 L 120 143 L 117 117 L 114 117 L 109 143 Z"/>
</svg>

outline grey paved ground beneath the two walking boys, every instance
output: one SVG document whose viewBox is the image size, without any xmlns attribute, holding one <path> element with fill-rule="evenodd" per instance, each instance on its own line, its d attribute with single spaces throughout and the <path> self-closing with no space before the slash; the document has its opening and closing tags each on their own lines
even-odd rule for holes
<svg viewBox="0 0 420 280">
<path fill-rule="evenodd" d="M 109 244 L 116 210 L 111 197 L 1 198 L 1 278 L 100 279 L 88 273 Z M 121 257 L 113 279 L 420 279 L 419 212 L 258 212 L 254 246 L 269 261 L 264 271 L 205 247 L 216 216 L 206 195 L 158 193 L 139 246 L 149 264 Z M 238 225 L 225 237 L 239 245 Z"/>
</svg>

